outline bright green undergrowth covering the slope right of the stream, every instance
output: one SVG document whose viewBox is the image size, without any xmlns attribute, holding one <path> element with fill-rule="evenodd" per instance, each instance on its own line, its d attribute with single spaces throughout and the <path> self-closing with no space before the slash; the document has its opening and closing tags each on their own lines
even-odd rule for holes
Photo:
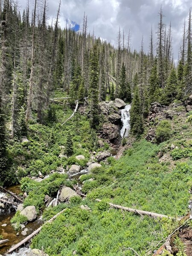
<svg viewBox="0 0 192 256">
<path fill-rule="evenodd" d="M 192 162 L 177 162 L 170 171 L 160 163 L 160 145 L 140 140 L 118 161 L 109 160 L 102 168 L 93 169 L 92 182 L 86 182 L 87 198 L 44 211 L 47 220 L 61 209 L 67 210 L 52 224 L 46 224 L 32 240 L 32 248 L 44 247 L 51 256 L 70 256 L 76 251 L 83 256 L 133 256 L 132 248 L 141 256 L 152 255 L 177 227 L 173 218 L 187 213 L 188 190 L 192 185 Z M 84 175 L 82 180 L 86 179 Z M 87 184 L 87 185 L 86 185 Z M 102 202 L 95 201 L 96 198 Z M 148 216 L 112 209 L 112 202 L 172 216 L 172 219 L 152 219 Z M 80 208 L 87 205 L 90 211 Z M 54 236 L 52 234 L 54 233 Z M 146 254 L 147 253 L 147 254 Z"/>
</svg>

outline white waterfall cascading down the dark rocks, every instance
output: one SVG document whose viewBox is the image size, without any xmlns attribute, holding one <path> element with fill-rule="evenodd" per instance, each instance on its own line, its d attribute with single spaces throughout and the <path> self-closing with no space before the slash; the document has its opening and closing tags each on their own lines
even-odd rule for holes
<svg viewBox="0 0 192 256">
<path fill-rule="evenodd" d="M 131 105 L 126 105 L 124 109 L 121 111 L 121 122 L 122 122 L 122 129 L 121 129 L 121 137 L 128 137 L 130 131 L 130 115 L 129 111 L 131 109 Z"/>
</svg>

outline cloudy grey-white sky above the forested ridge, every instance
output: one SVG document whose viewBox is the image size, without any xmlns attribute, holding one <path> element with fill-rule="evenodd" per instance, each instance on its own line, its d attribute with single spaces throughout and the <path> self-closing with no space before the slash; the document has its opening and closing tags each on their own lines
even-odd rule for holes
<svg viewBox="0 0 192 256">
<path fill-rule="evenodd" d="M 48 0 L 49 19 L 55 17 L 58 0 Z M 145 51 L 148 50 L 151 26 L 155 32 L 159 20 L 158 12 L 162 5 L 164 22 L 172 22 L 174 58 L 178 58 L 178 49 L 182 38 L 184 18 L 188 16 L 192 5 L 190 0 L 61 0 L 60 26 L 65 26 L 66 19 L 77 24 L 82 23 L 84 12 L 87 15 L 88 30 L 96 36 L 111 41 L 116 45 L 119 30 L 125 34 L 131 31 L 131 46 L 140 49 L 142 36 Z M 33 0 L 29 0 L 31 7 Z M 25 6 L 26 0 L 20 0 Z"/>
</svg>

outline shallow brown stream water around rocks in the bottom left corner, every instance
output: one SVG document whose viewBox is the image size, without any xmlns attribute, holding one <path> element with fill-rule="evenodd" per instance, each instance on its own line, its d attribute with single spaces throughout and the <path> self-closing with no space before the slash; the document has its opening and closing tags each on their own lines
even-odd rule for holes
<svg viewBox="0 0 192 256">
<path fill-rule="evenodd" d="M 11 186 L 9 188 L 7 188 L 9 191 L 15 193 L 15 194 L 20 194 L 21 190 L 20 190 L 20 186 Z M 0 197 L 1 197 L 2 193 L 0 192 Z M 19 232 L 15 231 L 10 223 L 11 218 L 15 215 L 15 212 L 11 212 L 9 209 L 6 209 L 5 211 L 0 212 L 0 235 L 3 236 L 3 239 L 9 239 L 8 242 L 6 242 L 5 244 L 0 244 L 0 254 L 5 255 L 6 251 L 12 247 L 12 245 L 17 244 L 18 242 L 22 241 L 25 236 L 21 235 L 21 231 Z M 3 224 L 7 224 L 6 227 L 2 227 Z M 38 227 L 40 227 L 42 224 L 42 219 L 39 218 L 36 221 L 33 222 L 29 222 L 26 225 L 26 228 L 29 229 L 29 231 L 27 232 L 27 236 L 29 234 L 31 234 L 34 230 L 38 229 Z M 17 234 L 18 233 L 18 234 Z M 29 248 L 21 248 L 17 253 L 14 253 L 12 255 L 17 255 L 17 256 L 25 256 L 25 252 L 29 251 Z"/>
</svg>

